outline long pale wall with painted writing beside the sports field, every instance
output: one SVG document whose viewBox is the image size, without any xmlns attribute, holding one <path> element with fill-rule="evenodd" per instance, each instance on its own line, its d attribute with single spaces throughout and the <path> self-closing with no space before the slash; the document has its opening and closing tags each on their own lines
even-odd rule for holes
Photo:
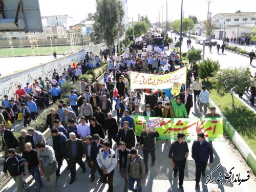
<svg viewBox="0 0 256 192">
<path fill-rule="evenodd" d="M 54 69 L 56 69 L 58 73 L 62 73 L 63 68 L 67 68 L 68 65 L 72 64 L 72 60 L 80 61 L 84 58 L 84 55 L 84 51 L 80 51 L 78 53 L 62 57 L 51 62 L 40 64 L 31 69 L 1 77 L 0 102 L 2 102 L 4 95 L 8 95 L 9 98 L 14 97 L 15 91 L 19 84 L 22 85 L 22 87 L 25 87 L 27 82 L 34 82 L 34 79 L 38 79 L 38 77 L 42 77 L 42 79 L 49 77 L 51 80 Z"/>
</svg>

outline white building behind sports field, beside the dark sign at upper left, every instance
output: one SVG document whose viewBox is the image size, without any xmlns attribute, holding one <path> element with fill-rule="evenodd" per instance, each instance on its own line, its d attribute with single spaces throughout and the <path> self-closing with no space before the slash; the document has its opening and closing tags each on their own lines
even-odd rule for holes
<svg viewBox="0 0 256 192">
<path fill-rule="evenodd" d="M 51 15 L 51 16 L 41 16 L 43 27 L 55 26 L 55 27 L 65 27 L 69 30 L 67 25 L 68 15 Z"/>
</svg>

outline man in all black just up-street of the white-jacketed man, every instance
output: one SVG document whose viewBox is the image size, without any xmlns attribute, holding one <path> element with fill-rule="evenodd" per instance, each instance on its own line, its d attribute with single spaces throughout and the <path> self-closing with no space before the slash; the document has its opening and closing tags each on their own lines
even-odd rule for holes
<svg viewBox="0 0 256 192">
<path fill-rule="evenodd" d="M 108 113 L 108 118 L 105 119 L 105 127 L 108 130 L 108 141 L 110 142 L 110 148 L 112 148 L 112 139 L 116 142 L 118 132 L 117 122 L 112 117 L 112 113 Z"/>
</svg>

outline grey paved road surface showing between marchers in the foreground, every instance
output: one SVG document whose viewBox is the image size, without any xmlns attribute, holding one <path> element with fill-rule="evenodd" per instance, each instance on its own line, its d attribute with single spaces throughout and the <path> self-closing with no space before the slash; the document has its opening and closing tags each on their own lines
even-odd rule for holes
<svg viewBox="0 0 256 192">
<path fill-rule="evenodd" d="M 144 105 L 142 105 L 142 109 Z M 114 116 L 116 117 L 116 111 L 114 111 Z M 191 109 L 190 117 L 199 117 L 198 114 L 198 106 L 196 105 L 193 109 Z M 168 160 L 168 152 L 170 143 L 173 140 L 158 140 L 156 141 L 156 164 L 154 167 L 150 166 L 149 160 L 149 172 L 146 178 L 146 185 L 143 187 L 143 191 L 180 191 L 178 189 L 178 178 L 173 178 L 173 170 L 170 168 L 169 160 Z M 189 142 L 188 147 L 191 150 L 192 142 Z M 203 191 L 207 192 L 212 187 L 219 187 L 222 191 L 227 192 L 242 192 L 242 191 L 252 191 L 253 187 L 256 187 L 256 178 L 252 173 L 251 169 L 246 164 L 245 160 L 238 152 L 236 147 L 232 144 L 232 142 L 224 138 L 223 142 L 213 142 L 214 145 L 214 164 L 210 167 L 207 166 L 206 175 L 210 173 L 210 171 L 216 167 L 219 163 L 221 166 L 214 172 L 213 176 L 217 178 L 219 173 L 222 173 L 222 176 L 225 173 L 225 170 L 229 172 L 229 170 L 234 167 L 233 174 L 240 174 L 241 179 L 247 178 L 247 170 L 249 170 L 250 179 L 246 182 L 241 183 L 227 183 L 227 181 L 223 181 L 223 185 L 220 183 L 208 183 L 204 185 L 207 181 L 207 178 L 204 177 L 202 179 L 203 183 L 200 182 L 200 189 L 195 189 L 195 162 L 191 158 L 191 153 L 189 153 L 189 157 L 187 159 L 186 167 L 185 167 L 185 177 L 184 177 L 184 191 Z M 136 146 L 138 148 L 138 146 Z M 114 150 L 116 150 L 116 144 L 114 145 Z M 142 152 L 139 150 L 139 154 Z M 149 158 L 151 159 L 151 157 Z M 72 184 L 69 185 L 70 181 L 70 172 L 66 170 L 67 163 L 64 161 L 63 166 L 61 167 L 61 176 L 57 181 L 57 192 L 68 192 L 74 191 L 75 189 L 80 189 L 80 191 L 103 191 L 105 192 L 108 189 L 108 185 L 105 184 L 97 184 L 97 179 L 99 179 L 98 173 L 96 174 L 96 181 L 91 183 L 90 181 L 90 168 L 87 167 L 87 172 L 82 174 L 82 170 L 77 165 L 77 179 Z M 33 181 L 34 182 L 34 181 Z M 32 183 L 27 184 L 26 188 Z M 114 173 L 114 191 L 119 192 L 123 191 L 124 181 L 120 177 L 118 173 L 118 167 L 115 168 Z M 24 189 L 24 191 L 25 191 Z M 14 181 L 12 180 L 2 191 L 16 191 L 16 187 Z M 28 191 L 28 190 L 26 190 Z M 44 181 L 44 187 L 42 187 L 41 191 L 49 191 L 49 182 Z"/>
</svg>

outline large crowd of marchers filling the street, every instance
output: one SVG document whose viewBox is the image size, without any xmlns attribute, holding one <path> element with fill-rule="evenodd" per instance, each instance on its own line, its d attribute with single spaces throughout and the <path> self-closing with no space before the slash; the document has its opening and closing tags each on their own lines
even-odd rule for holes
<svg viewBox="0 0 256 192">
<path fill-rule="evenodd" d="M 16 99 L 9 99 L 5 95 L 3 106 L 0 107 L 0 132 L 6 155 L 3 172 L 8 176 L 9 171 L 17 184 L 18 192 L 26 184 L 22 179 L 25 174 L 34 177 L 36 191 L 42 187 L 40 175 L 50 181 L 51 191 L 55 191 L 57 180 L 61 178 L 60 167 L 63 160 L 67 161 L 67 169 L 71 173 L 69 184 L 76 180 L 77 163 L 83 173 L 87 166 L 91 169 L 91 182 L 95 181 L 95 173 L 98 171 L 100 179 L 97 182 L 108 183 L 108 191 L 113 191 L 114 170 L 118 166 L 120 176 L 124 179 L 124 191 L 142 191 L 141 185 L 145 184 L 148 173 L 148 154 L 151 155 L 151 166 L 157 161 L 155 140 L 159 133 L 155 129 L 145 129 L 141 135 L 136 135 L 133 115 L 188 118 L 190 108 L 193 104 L 198 104 L 201 116 L 220 117 L 215 107 L 207 113 L 209 93 L 200 82 L 196 63 L 193 69 L 187 70 L 187 83 L 182 85 L 177 97 L 172 96 L 170 89 L 158 93 L 148 89 L 130 89 L 131 71 L 162 75 L 184 67 L 185 64 L 176 51 L 164 58 L 157 54 L 148 54 L 146 57 L 139 54 L 136 57 L 132 53 L 117 61 L 110 57 L 109 71 L 105 72 L 103 83 L 96 80 L 92 84 L 82 79 L 78 83 L 79 90 L 72 87 L 68 98 L 61 99 L 63 83 L 68 80 L 75 82 L 81 74 L 94 69 L 94 65 L 89 65 L 92 60 L 96 63 L 95 66 L 99 66 L 98 56 L 95 56 L 96 60 L 92 58 L 94 56 L 87 53 L 75 68 L 70 65 L 67 70 L 63 69 L 62 74 L 54 71 L 52 80 L 48 77 L 45 80 L 39 78 L 35 79 L 32 86 L 29 83 L 24 88 L 18 86 Z M 191 91 L 194 93 L 194 100 Z M 143 96 L 144 103 L 141 102 Z M 47 145 L 44 135 L 29 126 L 31 120 L 36 119 L 38 108 L 48 107 L 50 101 L 58 103 L 58 110 L 51 109 L 46 119 L 47 126 L 51 129 L 53 146 Z M 142 104 L 145 104 L 144 111 L 140 109 Z M 114 110 L 117 118 L 113 117 Z M 20 131 L 17 140 L 6 122 L 13 123 L 20 118 L 19 114 L 24 118 L 24 127 L 28 127 Z M 143 156 L 138 154 L 136 145 L 140 146 Z M 16 147 L 19 147 L 22 154 L 15 152 Z M 117 150 L 114 151 L 114 148 Z M 179 172 L 181 191 L 188 153 L 185 134 L 179 133 L 177 140 L 170 146 L 168 157 L 174 177 Z M 205 140 L 203 133 L 198 134 L 191 153 L 196 163 L 196 188 L 199 188 L 208 160 L 210 164 L 213 162 L 212 145 Z M 83 158 L 86 158 L 87 165 Z"/>
</svg>

